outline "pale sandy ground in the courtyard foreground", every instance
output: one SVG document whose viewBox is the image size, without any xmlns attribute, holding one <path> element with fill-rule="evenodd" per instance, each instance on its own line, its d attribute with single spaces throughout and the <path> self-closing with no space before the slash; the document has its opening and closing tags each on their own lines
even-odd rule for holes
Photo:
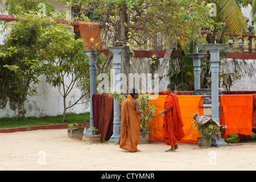
<svg viewBox="0 0 256 182">
<path fill-rule="evenodd" d="M 255 170 L 256 144 L 200 148 L 180 144 L 139 144 L 141 152 L 116 143 L 68 138 L 67 129 L 0 133 L 0 170 Z"/>
</svg>

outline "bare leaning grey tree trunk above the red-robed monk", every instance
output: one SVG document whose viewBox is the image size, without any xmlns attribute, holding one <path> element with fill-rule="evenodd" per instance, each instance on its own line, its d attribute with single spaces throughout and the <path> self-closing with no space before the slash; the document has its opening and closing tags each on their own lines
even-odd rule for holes
<svg viewBox="0 0 256 182">
<path fill-rule="evenodd" d="M 176 42 L 177 42 L 177 39 L 171 39 L 170 40 L 170 44 L 169 44 L 168 49 L 166 51 L 166 55 L 164 55 L 162 64 L 160 65 L 160 68 L 159 68 L 159 72 L 158 72 L 159 73 L 159 82 L 163 78 L 164 69 L 166 68 L 167 63 L 170 60 L 170 57 L 172 55 L 172 50 L 174 49 L 174 46 L 175 46 Z"/>
</svg>

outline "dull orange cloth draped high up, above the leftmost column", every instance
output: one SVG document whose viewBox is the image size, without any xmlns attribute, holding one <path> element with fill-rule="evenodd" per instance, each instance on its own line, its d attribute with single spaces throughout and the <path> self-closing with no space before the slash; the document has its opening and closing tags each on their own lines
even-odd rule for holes
<svg viewBox="0 0 256 182">
<path fill-rule="evenodd" d="M 102 50 L 100 26 L 95 22 L 81 22 L 79 28 L 76 27 L 76 32 L 80 32 L 81 38 L 85 41 L 84 47 L 88 50 Z"/>
</svg>

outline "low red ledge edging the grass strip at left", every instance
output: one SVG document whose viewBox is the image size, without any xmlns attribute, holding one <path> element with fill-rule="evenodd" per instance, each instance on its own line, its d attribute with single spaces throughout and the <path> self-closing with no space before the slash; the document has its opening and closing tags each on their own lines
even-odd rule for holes
<svg viewBox="0 0 256 182">
<path fill-rule="evenodd" d="M 90 123 L 78 123 L 79 127 L 89 126 Z M 68 129 L 69 124 L 61 125 L 41 125 L 41 126 L 26 126 L 26 127 L 15 127 L 10 129 L 0 129 L 0 133 L 14 133 L 17 131 L 32 131 L 32 130 L 52 130 L 52 129 Z"/>
</svg>

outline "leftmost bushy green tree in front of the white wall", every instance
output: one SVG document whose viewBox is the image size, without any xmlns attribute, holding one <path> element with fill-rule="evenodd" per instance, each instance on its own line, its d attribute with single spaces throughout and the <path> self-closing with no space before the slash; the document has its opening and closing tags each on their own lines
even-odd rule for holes
<svg viewBox="0 0 256 182">
<path fill-rule="evenodd" d="M 14 88 L 15 100 L 18 102 L 17 119 L 26 113 L 24 101 L 27 96 L 37 94 L 35 86 L 38 77 L 42 75 L 43 61 L 38 59 L 38 52 L 44 46 L 39 42 L 43 31 L 51 27 L 47 19 L 41 19 L 36 13 L 16 16 L 19 21 L 14 23 L 14 28 L 2 48 L 3 52 L 11 51 L 8 56 L 1 55 L 1 77 Z M 10 72 L 7 72 L 8 69 Z M 7 87 L 9 88 L 9 87 Z"/>
</svg>

